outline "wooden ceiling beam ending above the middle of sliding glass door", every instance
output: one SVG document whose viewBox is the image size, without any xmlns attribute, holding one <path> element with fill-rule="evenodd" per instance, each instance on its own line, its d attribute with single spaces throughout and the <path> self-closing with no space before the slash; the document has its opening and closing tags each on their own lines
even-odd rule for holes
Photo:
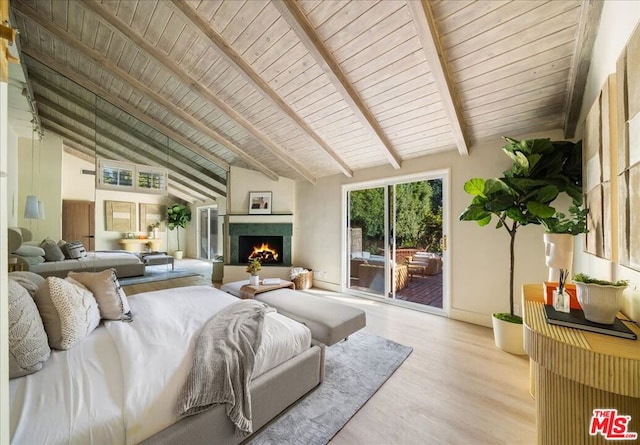
<svg viewBox="0 0 640 445">
<path fill-rule="evenodd" d="M 373 113 L 371 113 L 358 95 L 358 92 L 353 85 L 351 85 L 351 82 L 347 79 L 347 76 L 340 68 L 340 64 L 335 57 L 333 57 L 333 54 L 331 54 L 331 51 L 329 51 L 326 45 L 318 38 L 313 25 L 304 15 L 304 12 L 302 12 L 294 1 L 271 0 L 271 3 L 273 3 L 280 14 L 282 14 L 282 17 L 298 36 L 307 51 L 309 51 L 309 54 L 313 56 L 318 66 L 320 66 L 327 75 L 329 81 L 349 104 L 364 128 L 369 131 L 373 140 L 378 143 L 388 162 L 393 168 L 400 168 L 402 159 L 396 152 L 393 144 L 384 133 L 384 130 Z"/>
</svg>

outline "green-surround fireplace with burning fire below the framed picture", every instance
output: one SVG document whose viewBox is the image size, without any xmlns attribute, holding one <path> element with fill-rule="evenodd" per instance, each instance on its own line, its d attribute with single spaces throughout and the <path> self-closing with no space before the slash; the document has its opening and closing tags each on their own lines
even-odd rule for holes
<svg viewBox="0 0 640 445">
<path fill-rule="evenodd" d="M 229 264 L 246 265 L 251 255 L 263 266 L 291 266 L 291 223 L 229 223 Z"/>
</svg>

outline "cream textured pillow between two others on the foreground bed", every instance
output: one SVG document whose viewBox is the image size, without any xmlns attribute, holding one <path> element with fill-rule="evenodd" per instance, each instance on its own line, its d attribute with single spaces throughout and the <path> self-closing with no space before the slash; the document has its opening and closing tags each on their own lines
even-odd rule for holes
<svg viewBox="0 0 640 445">
<path fill-rule="evenodd" d="M 35 295 L 36 305 L 54 349 L 69 349 L 100 323 L 91 291 L 71 280 L 48 277 Z"/>
</svg>

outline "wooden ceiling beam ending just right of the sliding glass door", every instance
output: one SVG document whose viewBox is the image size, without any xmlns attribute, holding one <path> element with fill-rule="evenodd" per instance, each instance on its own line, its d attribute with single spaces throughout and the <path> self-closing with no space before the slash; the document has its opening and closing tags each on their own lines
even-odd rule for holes
<svg viewBox="0 0 640 445">
<path fill-rule="evenodd" d="M 458 147 L 458 153 L 461 156 L 469 155 L 469 143 L 464 133 L 464 120 L 462 118 L 462 108 L 458 103 L 454 82 L 451 72 L 448 68 L 447 61 L 444 57 L 444 49 L 440 43 L 435 18 L 429 2 L 427 0 L 408 1 L 409 11 L 413 16 L 413 22 L 418 32 L 418 38 L 422 43 L 425 56 L 431 75 L 435 81 L 436 87 L 440 92 L 442 106 L 451 131 Z"/>
</svg>

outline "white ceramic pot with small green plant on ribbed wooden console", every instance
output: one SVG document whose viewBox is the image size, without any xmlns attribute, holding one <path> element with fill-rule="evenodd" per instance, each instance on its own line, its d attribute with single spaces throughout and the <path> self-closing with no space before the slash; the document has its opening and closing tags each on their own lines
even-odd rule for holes
<svg viewBox="0 0 640 445">
<path fill-rule="evenodd" d="M 624 286 L 575 282 L 584 318 L 594 323 L 613 324 L 622 308 Z"/>
</svg>

